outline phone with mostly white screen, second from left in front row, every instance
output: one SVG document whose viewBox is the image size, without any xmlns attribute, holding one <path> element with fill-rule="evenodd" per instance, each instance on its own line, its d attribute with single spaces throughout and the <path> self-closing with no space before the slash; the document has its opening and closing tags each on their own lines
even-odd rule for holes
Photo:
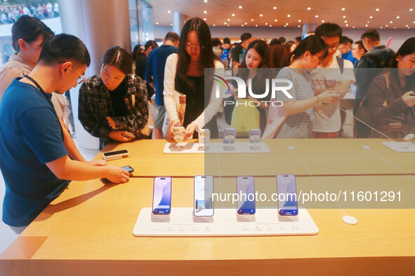
<svg viewBox="0 0 415 276">
<path fill-rule="evenodd" d="M 197 175 L 195 177 L 195 216 L 213 216 L 213 177 Z"/>
</svg>

